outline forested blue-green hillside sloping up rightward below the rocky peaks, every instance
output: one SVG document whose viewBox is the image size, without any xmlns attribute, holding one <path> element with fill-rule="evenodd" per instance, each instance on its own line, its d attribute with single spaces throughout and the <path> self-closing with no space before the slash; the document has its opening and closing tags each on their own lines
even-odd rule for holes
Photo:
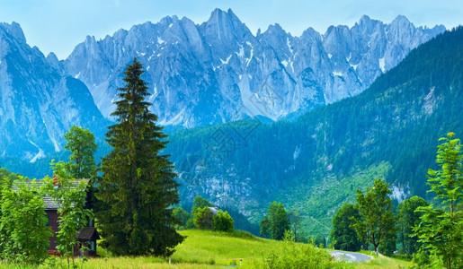
<svg viewBox="0 0 463 269">
<path fill-rule="evenodd" d="M 183 201 L 203 195 L 258 222 L 278 200 L 327 234 L 355 189 L 386 178 L 394 196 L 425 196 L 438 138 L 463 137 L 463 28 L 414 49 L 368 90 L 300 117 L 180 131 L 167 152 Z"/>
</svg>

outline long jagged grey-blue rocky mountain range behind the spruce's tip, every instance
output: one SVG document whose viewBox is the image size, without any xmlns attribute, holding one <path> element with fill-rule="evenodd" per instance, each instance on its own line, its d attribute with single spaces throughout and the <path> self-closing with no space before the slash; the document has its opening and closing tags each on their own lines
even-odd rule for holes
<svg viewBox="0 0 463 269">
<path fill-rule="evenodd" d="M 62 64 L 85 82 L 104 117 L 137 56 L 162 125 L 276 120 L 360 93 L 444 30 L 415 28 L 404 16 L 389 24 L 363 16 L 325 34 L 309 28 L 292 37 L 276 24 L 254 36 L 231 10 L 216 9 L 200 25 L 173 16 L 98 41 L 88 37 Z"/>
</svg>

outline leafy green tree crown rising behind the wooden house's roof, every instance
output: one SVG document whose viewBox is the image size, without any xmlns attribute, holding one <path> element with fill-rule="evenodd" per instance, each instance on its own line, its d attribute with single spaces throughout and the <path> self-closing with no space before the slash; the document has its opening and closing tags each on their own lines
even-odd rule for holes
<svg viewBox="0 0 463 269">
<path fill-rule="evenodd" d="M 71 152 L 67 170 L 72 178 L 94 178 L 96 176 L 96 164 L 93 153 L 97 145 L 93 134 L 79 126 L 72 126 L 65 134 L 67 143 L 65 149 Z"/>
</svg>

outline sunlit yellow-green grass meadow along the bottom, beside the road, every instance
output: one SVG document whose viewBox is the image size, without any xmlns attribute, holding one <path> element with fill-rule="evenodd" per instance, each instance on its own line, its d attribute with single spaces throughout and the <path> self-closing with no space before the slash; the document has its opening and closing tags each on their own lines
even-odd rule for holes
<svg viewBox="0 0 463 269">
<path fill-rule="evenodd" d="M 171 265 L 168 259 L 153 256 L 138 257 L 98 257 L 90 258 L 82 263 L 76 259 L 78 268 L 224 268 L 237 265 L 240 268 L 255 268 L 255 263 L 262 261 L 264 255 L 279 250 L 283 246 L 280 241 L 256 238 L 248 233 L 236 231 L 233 234 L 220 233 L 209 230 L 182 230 L 180 233 L 187 238 L 175 247 Z M 100 250 L 99 250 L 100 251 Z M 104 251 L 100 251 L 103 255 Z M 59 259 L 66 265 L 66 259 Z M 369 263 L 356 265 L 355 268 L 407 268 L 410 263 L 379 256 Z M 42 265 L 40 268 L 54 268 L 59 266 Z M 27 268 L 2 265 L 0 268 Z M 33 268 L 33 267 L 31 267 Z"/>
</svg>

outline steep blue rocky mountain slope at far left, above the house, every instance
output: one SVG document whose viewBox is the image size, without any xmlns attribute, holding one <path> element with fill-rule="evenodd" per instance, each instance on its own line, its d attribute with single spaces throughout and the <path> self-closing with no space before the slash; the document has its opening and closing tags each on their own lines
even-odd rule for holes
<svg viewBox="0 0 463 269">
<path fill-rule="evenodd" d="M 102 133 L 107 121 L 90 91 L 59 68 L 55 55 L 26 44 L 19 24 L 0 23 L 0 157 L 34 162 L 59 152 L 73 125 Z"/>
</svg>

